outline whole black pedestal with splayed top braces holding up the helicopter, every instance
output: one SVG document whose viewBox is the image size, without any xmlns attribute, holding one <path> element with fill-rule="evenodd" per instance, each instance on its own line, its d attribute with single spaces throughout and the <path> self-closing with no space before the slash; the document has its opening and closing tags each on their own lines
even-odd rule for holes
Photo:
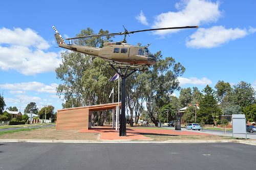
<svg viewBox="0 0 256 170">
<path fill-rule="evenodd" d="M 118 67 L 115 67 L 113 64 L 110 64 L 110 66 L 122 78 L 122 87 L 121 87 L 121 117 L 119 119 L 120 120 L 119 136 L 126 136 L 126 118 L 125 118 L 125 86 L 126 86 L 126 78 L 131 76 L 138 69 L 133 69 L 130 66 L 125 66 L 125 67 L 118 66 Z M 124 70 L 124 73 L 123 73 L 122 69 Z M 129 69 L 132 70 L 132 71 L 129 74 L 127 74 L 127 71 Z"/>
</svg>

